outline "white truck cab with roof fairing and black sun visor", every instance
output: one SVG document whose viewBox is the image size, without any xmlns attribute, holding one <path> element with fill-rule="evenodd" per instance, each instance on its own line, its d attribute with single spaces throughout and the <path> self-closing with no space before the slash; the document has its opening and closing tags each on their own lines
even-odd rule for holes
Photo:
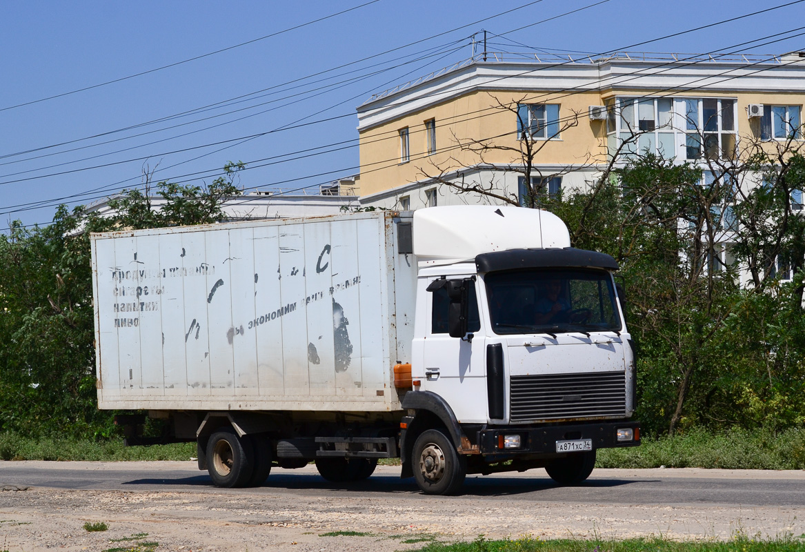
<svg viewBox="0 0 805 552">
<path fill-rule="evenodd" d="M 546 468 L 578 483 L 598 448 L 639 444 L 617 262 L 570 247 L 549 212 L 470 209 L 414 214 L 403 473 L 438 494 L 466 473 Z"/>
</svg>

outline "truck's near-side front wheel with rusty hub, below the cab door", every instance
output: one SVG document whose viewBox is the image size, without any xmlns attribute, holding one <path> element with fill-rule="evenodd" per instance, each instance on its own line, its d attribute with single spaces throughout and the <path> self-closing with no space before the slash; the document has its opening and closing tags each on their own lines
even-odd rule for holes
<svg viewBox="0 0 805 552">
<path fill-rule="evenodd" d="M 416 484 L 428 495 L 452 494 L 464 484 L 467 459 L 440 430 L 427 430 L 416 439 L 411 455 Z"/>
</svg>

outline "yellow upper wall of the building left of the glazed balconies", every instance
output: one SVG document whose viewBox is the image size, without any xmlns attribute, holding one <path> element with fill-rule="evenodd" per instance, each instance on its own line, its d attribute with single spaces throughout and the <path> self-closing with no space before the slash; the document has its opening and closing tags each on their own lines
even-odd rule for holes
<svg viewBox="0 0 805 552">
<path fill-rule="evenodd" d="M 565 95 L 539 92 L 475 92 L 399 117 L 360 133 L 361 195 L 382 192 L 478 163 L 522 163 L 518 153 L 517 115 L 501 105 L 559 104 L 561 126 L 575 123 L 559 139 L 537 140 L 535 163 L 585 163 L 587 155 L 605 154 L 605 123 L 590 121 L 588 105 L 600 105 L 597 92 Z M 576 117 L 575 113 L 580 113 Z M 436 154 L 427 154 L 425 122 L 436 120 Z M 411 160 L 400 162 L 399 130 L 408 127 Z M 493 149 L 481 154 L 461 148 L 483 139 Z"/>
</svg>

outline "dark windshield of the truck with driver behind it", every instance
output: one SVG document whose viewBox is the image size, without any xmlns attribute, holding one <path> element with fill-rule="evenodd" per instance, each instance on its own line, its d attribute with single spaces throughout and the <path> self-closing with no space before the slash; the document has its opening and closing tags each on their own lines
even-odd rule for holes
<svg viewBox="0 0 805 552">
<path fill-rule="evenodd" d="M 497 334 L 620 331 L 612 277 L 595 269 L 530 269 L 486 274 Z"/>
</svg>

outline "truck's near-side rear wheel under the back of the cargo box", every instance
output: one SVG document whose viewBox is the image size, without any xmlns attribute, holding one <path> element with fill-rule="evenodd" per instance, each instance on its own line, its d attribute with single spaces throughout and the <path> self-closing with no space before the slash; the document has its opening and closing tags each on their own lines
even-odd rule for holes
<svg viewBox="0 0 805 552">
<path fill-rule="evenodd" d="M 245 486 L 254 468 L 251 439 L 242 439 L 233 430 L 213 433 L 207 443 L 207 469 L 216 487 Z"/>
</svg>

